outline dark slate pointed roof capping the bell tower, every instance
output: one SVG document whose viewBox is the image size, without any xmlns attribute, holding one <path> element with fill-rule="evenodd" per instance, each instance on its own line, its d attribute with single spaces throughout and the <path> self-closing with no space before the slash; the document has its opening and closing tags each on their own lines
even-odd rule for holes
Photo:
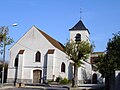
<svg viewBox="0 0 120 90">
<path fill-rule="evenodd" d="M 70 31 L 75 31 L 75 30 L 87 30 L 89 32 L 89 30 L 85 27 L 85 25 L 83 24 L 82 20 L 80 20 L 74 27 L 72 27 L 71 29 L 69 29 Z M 90 33 L 90 32 L 89 32 Z"/>
</svg>

